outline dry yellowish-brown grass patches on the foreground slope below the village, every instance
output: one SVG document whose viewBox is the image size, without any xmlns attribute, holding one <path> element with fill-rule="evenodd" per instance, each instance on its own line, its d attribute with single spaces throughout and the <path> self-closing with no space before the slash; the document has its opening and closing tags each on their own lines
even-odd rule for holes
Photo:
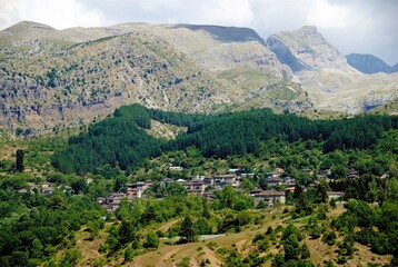
<svg viewBox="0 0 398 267">
<path fill-rule="evenodd" d="M 337 217 L 345 211 L 342 205 L 338 205 L 336 209 L 331 209 L 328 212 L 328 218 Z M 107 234 L 102 230 L 93 241 L 86 240 L 88 233 L 80 231 L 77 236 L 77 247 L 82 253 L 82 259 L 79 263 L 79 266 L 89 266 L 92 265 L 96 260 L 107 264 L 105 266 L 115 266 L 120 264 L 122 266 L 176 266 L 182 260 L 183 257 L 190 258 L 190 266 L 199 266 L 201 260 L 209 259 L 210 265 L 208 266 L 220 266 L 225 260 L 225 256 L 220 255 L 217 250 L 219 248 L 227 248 L 229 250 L 237 249 L 240 255 L 243 257 L 247 256 L 250 251 L 256 249 L 252 246 L 251 240 L 258 233 L 265 233 L 269 226 L 276 228 L 278 225 L 286 227 L 288 222 L 292 222 L 296 227 L 301 227 L 307 218 L 299 218 L 297 220 L 291 220 L 287 214 L 282 212 L 282 208 L 268 209 L 263 211 L 252 211 L 255 214 L 263 214 L 265 219 L 260 225 L 249 225 L 242 228 L 238 234 L 227 234 L 226 236 L 197 241 L 191 244 L 183 245 L 167 245 L 165 241 L 161 241 L 160 246 L 156 250 L 142 250 L 142 254 L 136 256 L 132 263 L 123 264 L 122 255 L 119 255 L 117 258 L 105 258 L 105 255 L 99 255 L 97 249 L 101 244 L 105 243 Z M 148 231 L 149 229 L 161 229 L 166 230 L 171 227 L 173 224 L 178 222 L 178 219 L 173 219 L 163 225 L 149 226 L 142 233 Z M 141 233 L 141 234 L 142 234 Z M 278 234 L 278 239 L 280 238 L 280 233 Z M 338 238 L 338 240 L 341 237 Z M 212 246 L 209 244 L 212 244 Z M 301 244 L 306 243 L 310 254 L 311 260 L 316 265 L 324 265 L 325 260 L 337 259 L 337 246 L 329 247 L 319 239 L 310 239 L 306 237 Z M 345 266 L 366 266 L 368 263 L 375 264 L 387 264 L 390 260 L 390 256 L 379 256 L 372 254 L 368 247 L 356 244 L 355 248 L 357 251 L 354 255 L 352 259 L 349 259 Z M 279 247 L 279 241 L 272 245 L 268 253 L 277 254 L 282 250 L 282 247 Z M 266 253 L 267 254 L 267 253 Z M 262 254 L 262 255 L 266 255 Z M 59 256 L 62 255 L 59 254 Z M 228 254 L 227 254 L 228 255 Z M 270 266 L 271 259 L 268 259 L 263 266 Z"/>
</svg>

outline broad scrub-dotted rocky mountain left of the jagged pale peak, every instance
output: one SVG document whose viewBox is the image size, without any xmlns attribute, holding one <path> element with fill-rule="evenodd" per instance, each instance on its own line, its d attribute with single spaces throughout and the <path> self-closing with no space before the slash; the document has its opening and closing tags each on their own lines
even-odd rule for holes
<svg viewBox="0 0 398 267">
<path fill-rule="evenodd" d="M 0 126 L 28 136 L 51 132 L 132 102 L 211 112 L 286 88 L 293 88 L 291 98 L 262 106 L 310 108 L 298 85 L 281 82 L 282 67 L 261 40 L 240 28 L 129 23 L 58 31 L 22 22 L 0 32 Z M 221 77 L 240 69 L 261 79 L 243 89 Z"/>
</svg>

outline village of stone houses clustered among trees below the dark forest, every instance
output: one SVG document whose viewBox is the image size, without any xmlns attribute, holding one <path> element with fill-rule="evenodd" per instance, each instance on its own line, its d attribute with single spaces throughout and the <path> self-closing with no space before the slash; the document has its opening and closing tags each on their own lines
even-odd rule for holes
<svg viewBox="0 0 398 267">
<path fill-rule="evenodd" d="M 181 171 L 183 168 L 180 166 L 170 166 L 170 170 Z M 302 169 L 301 171 L 309 175 L 314 175 L 314 171 L 310 169 Z M 227 185 L 230 185 L 235 188 L 238 194 L 246 194 L 255 198 L 255 206 L 258 207 L 260 201 L 268 207 L 275 206 L 277 204 L 286 204 L 287 192 L 293 192 L 296 188 L 295 179 L 290 177 L 283 177 L 285 170 L 282 168 L 275 168 L 273 171 L 267 172 L 267 189 L 255 188 L 252 190 L 245 190 L 240 188 L 242 179 L 253 177 L 255 174 L 242 172 L 241 169 L 229 169 L 226 175 L 216 175 L 213 177 L 205 176 L 193 176 L 188 180 L 171 178 L 165 178 L 160 180 L 162 187 L 168 187 L 172 182 L 182 185 L 188 194 L 195 194 L 197 196 L 205 197 L 208 201 L 215 200 L 216 191 L 222 190 Z M 347 178 L 355 179 L 358 178 L 358 171 L 351 169 L 347 172 Z M 325 178 L 328 181 L 330 180 L 330 170 L 324 170 L 318 178 Z M 309 187 L 315 187 L 317 180 L 309 185 Z M 126 192 L 112 192 L 109 194 L 106 198 L 99 197 L 96 198 L 96 201 L 101 204 L 107 211 L 116 211 L 120 207 L 120 202 L 123 198 L 131 201 L 137 198 L 148 198 L 146 194 L 147 190 L 153 185 L 153 181 L 138 181 L 133 184 L 126 184 Z M 302 190 L 307 190 L 305 186 L 301 186 Z M 328 200 L 336 199 L 342 200 L 344 192 L 341 191 L 327 191 Z"/>
</svg>

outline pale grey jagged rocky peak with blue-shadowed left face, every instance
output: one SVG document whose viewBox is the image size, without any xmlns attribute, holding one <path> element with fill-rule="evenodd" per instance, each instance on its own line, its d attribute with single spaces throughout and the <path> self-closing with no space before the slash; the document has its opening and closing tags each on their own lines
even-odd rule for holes
<svg viewBox="0 0 398 267">
<path fill-rule="evenodd" d="M 267 39 L 266 46 L 295 72 L 324 69 L 350 70 L 345 57 L 314 26 L 273 34 Z"/>
</svg>

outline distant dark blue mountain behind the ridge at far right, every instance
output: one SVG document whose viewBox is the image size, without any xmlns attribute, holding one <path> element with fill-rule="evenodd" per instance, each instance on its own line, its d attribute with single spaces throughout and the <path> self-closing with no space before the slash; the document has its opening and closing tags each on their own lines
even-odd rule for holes
<svg viewBox="0 0 398 267">
<path fill-rule="evenodd" d="M 388 66 L 381 59 L 372 55 L 350 53 L 346 56 L 347 62 L 362 73 L 372 75 L 377 72 L 392 73 L 397 72 L 397 66 Z"/>
</svg>

